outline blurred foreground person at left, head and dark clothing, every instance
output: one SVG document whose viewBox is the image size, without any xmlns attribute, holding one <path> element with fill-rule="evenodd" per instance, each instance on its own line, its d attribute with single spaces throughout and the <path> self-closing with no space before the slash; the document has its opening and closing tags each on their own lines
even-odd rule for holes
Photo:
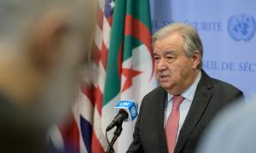
<svg viewBox="0 0 256 153">
<path fill-rule="evenodd" d="M 68 114 L 79 82 L 95 77 L 95 6 L 93 0 L 0 1 L 0 152 L 48 152 L 49 125 Z"/>
</svg>

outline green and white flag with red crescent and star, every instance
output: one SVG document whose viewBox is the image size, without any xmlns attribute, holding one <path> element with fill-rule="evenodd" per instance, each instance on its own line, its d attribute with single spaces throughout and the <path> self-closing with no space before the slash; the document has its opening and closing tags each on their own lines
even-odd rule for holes
<svg viewBox="0 0 256 153">
<path fill-rule="evenodd" d="M 108 51 L 108 66 L 102 102 L 102 129 L 116 115 L 119 100 L 133 99 L 138 105 L 156 87 L 151 47 L 148 0 L 116 0 Z M 131 144 L 135 122 L 124 122 L 115 145 L 118 153 Z M 109 134 L 109 139 L 111 135 Z"/>
</svg>

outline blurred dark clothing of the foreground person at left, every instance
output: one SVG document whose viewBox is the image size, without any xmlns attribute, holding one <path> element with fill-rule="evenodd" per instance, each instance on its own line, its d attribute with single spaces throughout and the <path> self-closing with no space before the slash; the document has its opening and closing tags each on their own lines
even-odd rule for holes
<svg viewBox="0 0 256 153">
<path fill-rule="evenodd" d="M 49 153 L 47 128 L 32 124 L 29 114 L 14 104 L 0 94 L 0 152 Z"/>
</svg>

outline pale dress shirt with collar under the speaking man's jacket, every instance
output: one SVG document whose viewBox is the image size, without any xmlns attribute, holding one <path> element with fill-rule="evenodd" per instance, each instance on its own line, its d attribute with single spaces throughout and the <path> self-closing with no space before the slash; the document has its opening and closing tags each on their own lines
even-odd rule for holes
<svg viewBox="0 0 256 153">
<path fill-rule="evenodd" d="M 188 115 L 189 112 L 189 108 L 192 104 L 192 100 L 194 99 L 195 96 L 195 90 L 197 88 L 198 82 L 201 79 L 201 71 L 198 73 L 197 77 L 195 78 L 195 82 L 193 82 L 191 84 L 191 86 L 189 86 L 189 88 L 187 88 L 181 95 L 183 96 L 183 102 L 179 107 L 179 113 L 180 113 L 180 117 L 179 117 L 179 123 L 178 123 L 178 128 L 177 128 L 177 138 L 180 132 L 181 127 L 183 127 L 183 123 L 185 121 L 186 116 Z M 172 94 L 168 94 L 167 95 L 167 99 L 166 99 L 166 106 L 165 106 L 165 115 L 164 115 L 164 126 L 166 127 L 166 122 L 168 119 L 168 116 L 170 116 L 171 111 L 172 111 Z M 176 139 L 177 141 L 177 139 Z"/>
</svg>

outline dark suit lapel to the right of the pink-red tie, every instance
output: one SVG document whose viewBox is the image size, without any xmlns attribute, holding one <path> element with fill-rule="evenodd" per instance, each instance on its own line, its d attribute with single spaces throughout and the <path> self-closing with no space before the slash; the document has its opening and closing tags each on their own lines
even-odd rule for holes
<svg viewBox="0 0 256 153">
<path fill-rule="evenodd" d="M 174 151 L 176 153 L 183 149 L 183 145 L 189 139 L 192 130 L 196 126 L 197 122 L 199 122 L 212 97 L 212 92 L 210 89 L 213 87 L 213 85 L 210 77 L 208 77 L 204 71 L 202 71 L 201 74 L 201 80 L 196 88 L 195 97 L 177 139 L 177 144 Z"/>
</svg>

